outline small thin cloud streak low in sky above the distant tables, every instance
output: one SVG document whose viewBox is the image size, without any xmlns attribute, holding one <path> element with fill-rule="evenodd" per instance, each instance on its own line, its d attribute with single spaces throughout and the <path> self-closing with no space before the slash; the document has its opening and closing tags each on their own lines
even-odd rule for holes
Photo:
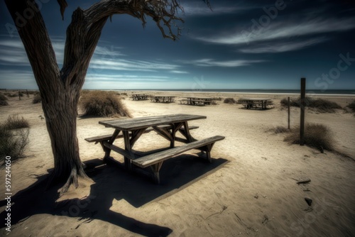
<svg viewBox="0 0 355 237">
<path fill-rule="evenodd" d="M 200 67 L 242 67 L 253 63 L 264 62 L 264 60 L 224 60 L 216 61 L 210 58 L 203 58 L 200 60 L 184 60 L 181 61 L 186 64 L 192 64 Z"/>
</svg>

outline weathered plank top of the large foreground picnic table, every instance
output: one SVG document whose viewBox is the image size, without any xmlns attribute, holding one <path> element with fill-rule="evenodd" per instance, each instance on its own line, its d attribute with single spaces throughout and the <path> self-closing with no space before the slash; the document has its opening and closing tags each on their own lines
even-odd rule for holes
<svg viewBox="0 0 355 237">
<path fill-rule="evenodd" d="M 147 116 L 141 118 L 116 119 L 109 121 L 99 121 L 106 127 L 116 128 L 120 131 L 134 131 L 140 128 L 148 128 L 171 123 L 179 123 L 190 120 L 207 118 L 206 116 L 192 114 L 169 114 L 161 116 Z"/>
</svg>

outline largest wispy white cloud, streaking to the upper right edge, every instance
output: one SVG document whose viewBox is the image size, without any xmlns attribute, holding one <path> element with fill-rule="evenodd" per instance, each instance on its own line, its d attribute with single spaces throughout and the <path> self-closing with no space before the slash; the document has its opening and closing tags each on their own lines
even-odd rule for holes
<svg viewBox="0 0 355 237">
<path fill-rule="evenodd" d="M 249 23 L 246 28 L 238 28 L 233 33 L 219 33 L 212 37 L 195 37 L 207 43 L 217 43 L 225 45 L 248 45 L 249 43 L 278 40 L 302 35 L 314 35 L 316 33 L 329 33 L 337 31 L 348 31 L 355 28 L 355 18 L 347 19 L 317 19 L 314 21 L 292 22 L 283 21 L 273 22 L 268 26 L 261 26 Z"/>
</svg>

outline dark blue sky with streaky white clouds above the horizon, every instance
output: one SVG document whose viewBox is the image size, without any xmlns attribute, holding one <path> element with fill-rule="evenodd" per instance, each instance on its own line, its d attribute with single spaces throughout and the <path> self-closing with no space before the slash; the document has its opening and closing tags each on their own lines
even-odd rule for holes
<svg viewBox="0 0 355 237">
<path fill-rule="evenodd" d="M 97 1 L 37 0 L 62 67 L 72 12 Z M 181 0 L 179 40 L 151 18 L 107 21 L 83 89 L 355 89 L 354 1 Z M 13 20 L 0 1 L 0 88 L 37 89 Z"/>
</svg>

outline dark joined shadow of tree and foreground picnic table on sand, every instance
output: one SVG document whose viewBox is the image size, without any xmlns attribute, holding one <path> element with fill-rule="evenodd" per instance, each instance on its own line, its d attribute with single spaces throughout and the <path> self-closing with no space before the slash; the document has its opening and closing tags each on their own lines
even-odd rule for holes
<svg viewBox="0 0 355 237">
<path fill-rule="evenodd" d="M 180 155 L 164 163 L 160 170 L 163 182 L 157 185 L 145 176 L 117 169 L 113 165 L 103 165 L 101 159 L 89 160 L 84 162 L 87 165 L 87 175 L 94 181 L 89 196 L 57 202 L 60 187 L 46 190 L 48 175 L 42 175 L 33 185 L 11 197 L 11 224 L 18 224 L 35 214 L 51 214 L 76 217 L 77 228 L 93 219 L 99 219 L 141 236 L 168 236 L 173 232 L 171 228 L 147 224 L 111 211 L 112 202 L 114 199 L 125 199 L 132 206 L 143 206 L 180 191 L 210 172 L 218 170 L 226 162 L 227 160 L 219 158 L 209 164 L 194 155 Z M 1 200 L 0 206 L 6 206 L 6 203 L 6 200 Z M 7 211 L 2 211 L 0 219 L 4 220 L 6 215 Z"/>
</svg>

